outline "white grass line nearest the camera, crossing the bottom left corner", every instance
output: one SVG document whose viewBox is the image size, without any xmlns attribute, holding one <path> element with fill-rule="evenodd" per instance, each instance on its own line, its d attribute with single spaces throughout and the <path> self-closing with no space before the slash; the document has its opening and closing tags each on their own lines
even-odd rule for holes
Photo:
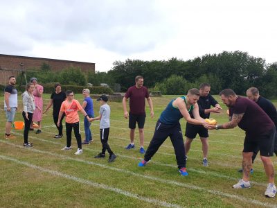
<svg viewBox="0 0 277 208">
<path fill-rule="evenodd" d="M 30 168 L 42 171 L 44 173 L 50 173 L 51 175 L 54 175 L 54 176 L 64 177 L 66 179 L 73 180 L 75 182 L 79 182 L 80 184 L 85 184 L 85 185 L 89 185 L 91 187 L 96 187 L 96 188 L 99 188 L 99 189 L 104 189 L 106 191 L 113 191 L 115 193 L 118 193 L 118 194 L 121 194 L 121 195 L 124 195 L 124 196 L 128 196 L 130 198 L 136 198 L 137 200 L 148 202 L 150 204 L 160 205 L 160 206 L 163 206 L 163 207 L 181 207 L 180 205 L 171 204 L 171 203 L 168 203 L 168 202 L 163 202 L 161 200 L 156 200 L 154 198 L 146 198 L 146 197 L 143 197 L 143 196 L 139 196 L 136 193 L 131 193 L 131 192 L 125 191 L 123 189 L 118 189 L 118 188 L 110 187 L 110 186 L 107 186 L 105 184 L 99 184 L 99 183 L 93 182 L 91 180 L 84 180 L 84 179 L 82 179 L 80 177 L 75 177 L 73 175 L 68 175 L 68 174 L 62 173 L 60 171 L 52 171 L 50 169 L 42 168 L 41 166 L 36 166 L 34 164 L 30 164 L 28 162 L 20 161 L 18 159 L 14 159 L 12 157 L 7 157 L 5 155 L 0 155 L 0 158 L 8 160 L 8 161 L 15 162 L 17 164 L 22 164 L 24 166 L 28 166 Z"/>
</svg>

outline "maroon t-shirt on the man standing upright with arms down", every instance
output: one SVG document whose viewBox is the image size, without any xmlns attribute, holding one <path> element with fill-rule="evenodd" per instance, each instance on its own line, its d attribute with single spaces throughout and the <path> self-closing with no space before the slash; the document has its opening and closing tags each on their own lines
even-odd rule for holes
<svg viewBox="0 0 277 208">
<path fill-rule="evenodd" d="M 137 88 L 136 85 L 129 87 L 125 98 L 129 98 L 129 112 L 131 114 L 145 114 L 145 98 L 149 98 L 149 92 L 146 87 Z"/>
</svg>

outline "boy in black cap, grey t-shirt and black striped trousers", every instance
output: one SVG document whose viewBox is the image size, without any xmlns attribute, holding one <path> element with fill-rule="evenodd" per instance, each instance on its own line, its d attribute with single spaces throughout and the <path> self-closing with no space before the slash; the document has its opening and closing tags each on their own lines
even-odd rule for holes
<svg viewBox="0 0 277 208">
<path fill-rule="evenodd" d="M 103 158 L 105 157 L 106 150 L 109 153 L 109 160 L 108 162 L 114 162 L 114 159 L 116 159 L 116 155 L 111 151 L 111 148 L 109 148 L 108 139 L 109 139 L 109 115 L 111 114 L 111 109 L 109 108 L 109 105 L 107 104 L 108 97 L 105 95 L 100 96 L 100 98 L 97 99 L 97 101 L 100 101 L 100 111 L 99 116 L 96 118 L 91 118 L 89 121 L 96 121 L 100 120 L 100 140 L 102 143 L 102 152 L 96 155 L 94 158 Z"/>
</svg>

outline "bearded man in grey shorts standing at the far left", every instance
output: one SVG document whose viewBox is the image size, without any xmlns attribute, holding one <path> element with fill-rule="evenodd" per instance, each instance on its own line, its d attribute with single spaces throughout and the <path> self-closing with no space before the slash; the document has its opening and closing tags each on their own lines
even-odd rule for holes
<svg viewBox="0 0 277 208">
<path fill-rule="evenodd" d="M 15 139 L 14 135 L 10 135 L 12 129 L 12 121 L 15 119 L 15 112 L 17 111 L 17 89 L 15 89 L 15 83 L 17 80 L 15 76 L 9 77 L 9 84 L 4 89 L 4 110 L 6 112 L 6 139 Z"/>
</svg>

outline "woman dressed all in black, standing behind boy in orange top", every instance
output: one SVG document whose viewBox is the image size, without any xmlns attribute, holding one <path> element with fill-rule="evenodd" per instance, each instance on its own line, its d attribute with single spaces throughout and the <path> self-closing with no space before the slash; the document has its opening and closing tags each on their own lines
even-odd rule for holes
<svg viewBox="0 0 277 208">
<path fill-rule="evenodd" d="M 66 94 L 62 92 L 62 86 L 60 83 L 55 84 L 55 92 L 51 94 L 51 99 L 49 103 L 47 104 L 46 110 L 44 110 L 44 113 L 48 111 L 48 109 L 53 105 L 53 120 L 55 125 L 57 126 L 57 119 L 60 112 L 60 107 L 62 105 L 62 102 L 66 99 Z M 64 114 L 62 115 L 62 119 L 64 119 Z M 54 136 L 55 139 L 62 138 L 62 119 L 60 121 L 60 126 L 57 126 L 57 130 L 59 130 L 59 133 Z"/>
</svg>

